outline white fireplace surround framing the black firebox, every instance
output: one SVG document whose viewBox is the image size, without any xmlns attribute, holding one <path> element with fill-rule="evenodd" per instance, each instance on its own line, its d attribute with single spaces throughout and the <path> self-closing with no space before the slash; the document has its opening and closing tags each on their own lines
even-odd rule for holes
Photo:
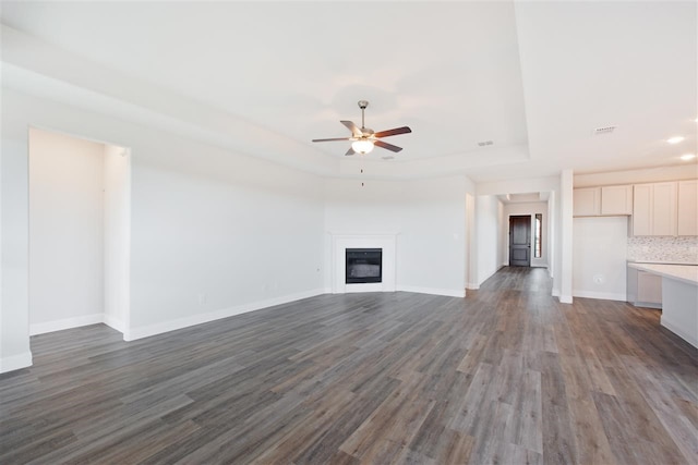
<svg viewBox="0 0 698 465">
<path fill-rule="evenodd" d="M 395 292 L 397 272 L 397 236 L 398 233 L 350 233 L 330 232 L 332 236 L 332 292 Z M 382 248 L 383 282 L 347 284 L 346 252 L 347 248 Z"/>
</svg>

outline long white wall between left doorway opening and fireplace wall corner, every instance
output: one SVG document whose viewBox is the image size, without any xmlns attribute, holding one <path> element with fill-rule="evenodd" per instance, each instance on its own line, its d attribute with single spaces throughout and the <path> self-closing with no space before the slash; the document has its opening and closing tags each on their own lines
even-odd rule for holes
<svg viewBox="0 0 698 465">
<path fill-rule="evenodd" d="M 186 140 L 132 150 L 137 335 L 322 292 L 317 178 Z"/>
</svg>

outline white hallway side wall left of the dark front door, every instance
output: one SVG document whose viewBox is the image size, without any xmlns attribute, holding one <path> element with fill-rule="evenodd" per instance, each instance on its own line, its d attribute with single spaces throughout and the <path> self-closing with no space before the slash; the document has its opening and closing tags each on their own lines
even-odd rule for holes
<svg viewBox="0 0 698 465">
<path fill-rule="evenodd" d="M 495 195 L 479 195 L 476 200 L 478 237 L 478 286 L 494 274 L 504 257 L 504 207 Z"/>
</svg>

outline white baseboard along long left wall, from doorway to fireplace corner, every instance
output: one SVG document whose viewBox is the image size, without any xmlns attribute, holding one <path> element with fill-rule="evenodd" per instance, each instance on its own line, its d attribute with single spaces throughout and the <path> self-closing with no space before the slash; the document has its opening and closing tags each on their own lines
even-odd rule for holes
<svg viewBox="0 0 698 465">
<path fill-rule="evenodd" d="M 246 314 L 248 311 L 254 311 L 261 308 L 273 307 L 275 305 L 288 304 L 289 302 L 296 302 L 302 298 L 314 297 L 315 295 L 321 295 L 324 293 L 325 293 L 325 290 L 323 287 L 314 289 L 312 291 L 304 291 L 296 294 L 288 294 L 280 297 L 269 298 L 266 301 L 252 302 L 249 304 L 238 305 L 236 307 L 208 311 L 206 314 L 192 315 L 190 317 L 178 318 L 169 321 L 164 321 L 160 323 L 148 325 L 140 328 L 132 328 L 129 331 L 124 331 L 123 340 L 135 341 L 136 339 L 143 339 L 143 338 L 148 338 L 151 335 L 161 334 L 164 332 L 176 331 L 178 329 L 189 328 L 195 325 L 202 325 L 202 323 L 232 317 L 240 314 Z"/>
</svg>

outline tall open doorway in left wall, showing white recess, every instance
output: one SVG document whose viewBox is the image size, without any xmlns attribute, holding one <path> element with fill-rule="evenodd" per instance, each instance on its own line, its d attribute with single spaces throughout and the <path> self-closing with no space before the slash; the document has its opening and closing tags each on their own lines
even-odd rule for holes
<svg viewBox="0 0 698 465">
<path fill-rule="evenodd" d="M 131 151 L 29 129 L 29 334 L 130 326 Z"/>
</svg>

